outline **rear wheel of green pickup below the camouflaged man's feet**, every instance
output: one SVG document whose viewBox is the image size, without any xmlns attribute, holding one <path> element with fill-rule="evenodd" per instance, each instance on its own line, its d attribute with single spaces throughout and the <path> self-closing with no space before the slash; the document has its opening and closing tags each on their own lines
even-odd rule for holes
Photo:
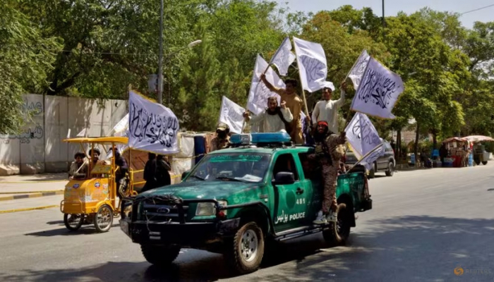
<svg viewBox="0 0 494 282">
<path fill-rule="evenodd" d="M 351 217 L 354 212 L 347 209 L 347 204 L 338 204 L 337 221 L 330 222 L 329 229 L 323 231 L 324 240 L 330 245 L 343 246 L 350 236 Z"/>
</svg>

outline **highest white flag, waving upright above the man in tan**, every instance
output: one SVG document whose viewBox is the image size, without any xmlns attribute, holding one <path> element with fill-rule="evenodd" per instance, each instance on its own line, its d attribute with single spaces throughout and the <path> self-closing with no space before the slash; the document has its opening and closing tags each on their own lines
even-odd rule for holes
<svg viewBox="0 0 494 282">
<path fill-rule="evenodd" d="M 303 90 L 315 92 L 327 84 L 327 64 L 323 46 L 294 37 L 295 54 Z"/>
</svg>

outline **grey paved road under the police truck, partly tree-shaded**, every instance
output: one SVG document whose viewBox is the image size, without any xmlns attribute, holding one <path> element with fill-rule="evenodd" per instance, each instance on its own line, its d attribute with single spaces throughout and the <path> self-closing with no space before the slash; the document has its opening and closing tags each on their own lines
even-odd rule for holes
<svg viewBox="0 0 494 282">
<path fill-rule="evenodd" d="M 0 281 L 493 281 L 493 183 L 493 165 L 376 178 L 373 209 L 359 214 L 349 246 L 327 248 L 321 235 L 290 241 L 246 276 L 197 250 L 157 269 L 117 221 L 109 233 L 68 233 L 58 209 L 0 214 Z"/>
</svg>

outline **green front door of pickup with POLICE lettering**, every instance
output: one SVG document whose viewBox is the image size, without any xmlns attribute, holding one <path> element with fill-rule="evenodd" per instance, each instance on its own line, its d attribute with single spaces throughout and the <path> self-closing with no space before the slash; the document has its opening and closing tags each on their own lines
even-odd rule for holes
<svg viewBox="0 0 494 282">
<path fill-rule="evenodd" d="M 297 157 L 298 159 L 298 157 Z M 294 173 L 295 182 L 292 184 L 273 184 L 275 192 L 275 209 L 273 223 L 275 231 L 284 231 L 291 228 L 303 226 L 303 221 L 308 216 L 307 203 L 311 198 L 305 180 L 301 180 L 299 171 L 300 162 L 294 161 L 291 153 L 279 154 L 275 159 L 275 166 L 272 170 L 272 180 L 279 172 Z"/>
</svg>

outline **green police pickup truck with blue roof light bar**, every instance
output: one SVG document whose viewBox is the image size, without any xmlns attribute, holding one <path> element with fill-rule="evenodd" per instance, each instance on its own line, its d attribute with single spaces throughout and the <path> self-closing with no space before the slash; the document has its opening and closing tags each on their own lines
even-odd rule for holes
<svg viewBox="0 0 494 282">
<path fill-rule="evenodd" d="M 181 183 L 123 199 L 121 230 L 147 262 L 166 266 L 187 247 L 222 253 L 246 274 L 274 240 L 322 232 L 344 245 L 355 213 L 372 209 L 365 168 L 356 166 L 338 178 L 337 222 L 314 225 L 323 183 L 308 159 L 313 147 L 291 145 L 287 133 L 233 135 L 231 142 L 183 173 Z"/>
</svg>

